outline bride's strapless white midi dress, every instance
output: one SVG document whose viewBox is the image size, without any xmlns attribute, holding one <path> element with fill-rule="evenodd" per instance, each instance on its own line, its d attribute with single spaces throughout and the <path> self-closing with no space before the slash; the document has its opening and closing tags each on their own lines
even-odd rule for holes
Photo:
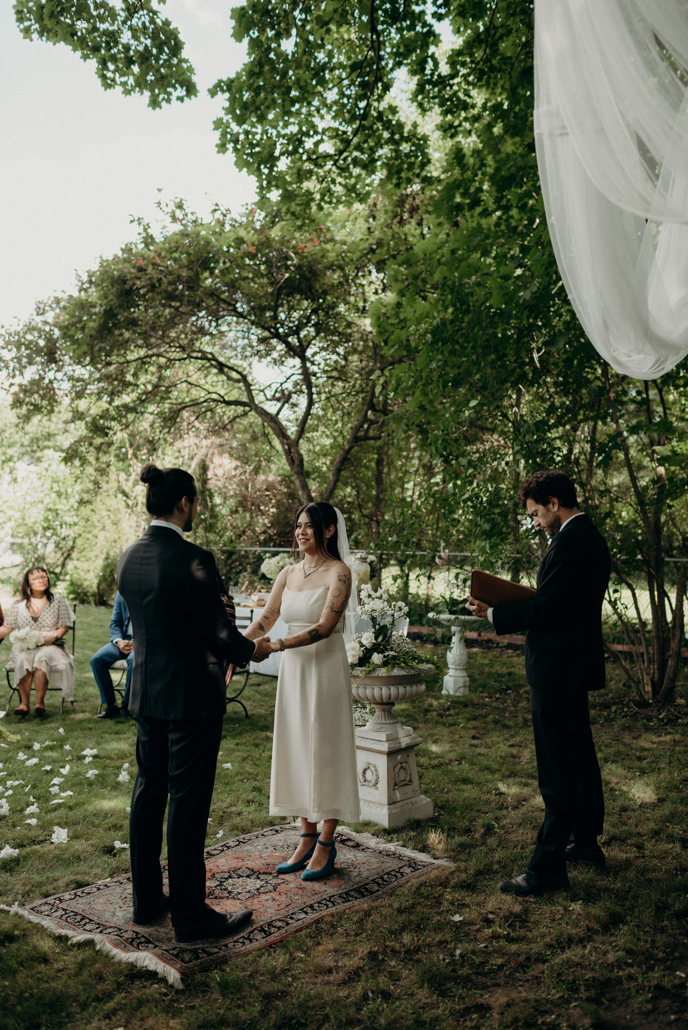
<svg viewBox="0 0 688 1030">
<path fill-rule="evenodd" d="M 282 593 L 281 617 L 295 636 L 320 618 L 328 588 Z M 351 676 L 343 618 L 326 640 L 281 656 L 275 701 L 270 815 L 360 820 Z"/>
</svg>

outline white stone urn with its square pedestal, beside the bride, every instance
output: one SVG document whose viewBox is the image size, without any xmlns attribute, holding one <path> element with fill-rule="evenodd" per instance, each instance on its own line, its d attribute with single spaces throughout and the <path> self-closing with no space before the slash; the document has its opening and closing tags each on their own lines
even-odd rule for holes
<svg viewBox="0 0 688 1030">
<path fill-rule="evenodd" d="M 415 749 L 422 737 L 392 713 L 398 701 L 423 693 L 422 677 L 431 672 L 432 665 L 418 665 L 364 677 L 356 668 L 351 673 L 353 696 L 375 709 L 373 718 L 356 729 L 360 818 L 387 829 L 433 815 L 433 802 L 423 797 L 418 784 Z"/>
</svg>

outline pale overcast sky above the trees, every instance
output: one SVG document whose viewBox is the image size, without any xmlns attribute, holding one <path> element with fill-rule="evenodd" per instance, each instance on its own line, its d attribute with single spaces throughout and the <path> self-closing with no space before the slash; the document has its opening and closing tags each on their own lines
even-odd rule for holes
<svg viewBox="0 0 688 1030">
<path fill-rule="evenodd" d="M 161 197 L 183 197 L 199 212 L 253 199 L 252 180 L 215 150 L 221 98 L 206 94 L 243 62 L 231 6 L 168 0 L 199 96 L 153 111 L 145 98 L 106 93 L 93 64 L 68 47 L 24 39 L 12 4 L 0 3 L 0 325 L 71 289 L 75 270 L 135 237 L 132 215 L 154 220 Z"/>
</svg>

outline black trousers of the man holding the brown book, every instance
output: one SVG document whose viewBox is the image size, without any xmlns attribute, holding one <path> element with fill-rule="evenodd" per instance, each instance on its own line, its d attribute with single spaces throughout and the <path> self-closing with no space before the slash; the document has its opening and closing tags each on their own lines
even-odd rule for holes
<svg viewBox="0 0 688 1030">
<path fill-rule="evenodd" d="M 588 695 L 580 688 L 531 688 L 530 711 L 545 819 L 528 868 L 545 878 L 561 877 L 569 840 L 595 847 L 605 822 Z"/>
</svg>

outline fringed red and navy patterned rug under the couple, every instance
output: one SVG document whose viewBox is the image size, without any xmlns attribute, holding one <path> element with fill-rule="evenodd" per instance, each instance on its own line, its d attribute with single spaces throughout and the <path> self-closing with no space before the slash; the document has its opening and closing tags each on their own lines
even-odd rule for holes
<svg viewBox="0 0 688 1030">
<path fill-rule="evenodd" d="M 299 842 L 293 824 L 271 826 L 207 848 L 207 899 L 218 912 L 252 908 L 253 919 L 231 937 L 178 945 L 169 915 L 148 926 L 132 923 L 131 877 L 103 880 L 66 894 L 5 912 L 40 923 L 76 943 L 93 940 L 112 958 L 154 970 L 174 987 L 182 977 L 283 940 L 316 919 L 390 894 L 416 877 L 450 862 L 407 851 L 369 833 L 337 830 L 336 872 L 304 883 L 301 873 L 278 877 Z M 163 864 L 165 887 L 167 867 Z"/>
</svg>

